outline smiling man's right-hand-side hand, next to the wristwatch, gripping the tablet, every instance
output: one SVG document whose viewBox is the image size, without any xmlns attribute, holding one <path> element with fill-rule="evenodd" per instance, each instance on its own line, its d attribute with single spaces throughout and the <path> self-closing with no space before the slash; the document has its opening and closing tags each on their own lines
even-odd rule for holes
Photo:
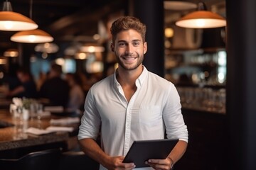
<svg viewBox="0 0 256 170">
<path fill-rule="evenodd" d="M 171 159 L 149 159 L 149 161 L 145 162 L 152 168 L 156 170 L 169 170 L 171 169 L 171 166 L 173 166 L 174 162 L 171 161 Z"/>
</svg>

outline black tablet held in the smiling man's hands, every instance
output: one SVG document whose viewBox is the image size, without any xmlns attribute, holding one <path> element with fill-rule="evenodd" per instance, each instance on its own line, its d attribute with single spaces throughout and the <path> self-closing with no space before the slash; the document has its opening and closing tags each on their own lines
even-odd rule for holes
<svg viewBox="0 0 256 170">
<path fill-rule="evenodd" d="M 148 167 L 145 162 L 149 159 L 166 159 L 172 149 L 174 149 L 176 140 L 137 140 L 132 143 L 131 148 L 124 157 L 123 162 L 134 162 L 136 168 Z"/>
</svg>

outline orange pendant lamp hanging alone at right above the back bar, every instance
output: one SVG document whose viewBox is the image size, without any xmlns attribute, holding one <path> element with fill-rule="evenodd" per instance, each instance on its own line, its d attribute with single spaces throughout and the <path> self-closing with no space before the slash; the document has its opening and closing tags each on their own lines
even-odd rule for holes
<svg viewBox="0 0 256 170">
<path fill-rule="evenodd" d="M 217 13 L 206 11 L 206 5 L 199 2 L 198 11 L 183 16 L 176 22 L 176 26 L 183 28 L 218 28 L 226 26 L 226 21 Z"/>
</svg>

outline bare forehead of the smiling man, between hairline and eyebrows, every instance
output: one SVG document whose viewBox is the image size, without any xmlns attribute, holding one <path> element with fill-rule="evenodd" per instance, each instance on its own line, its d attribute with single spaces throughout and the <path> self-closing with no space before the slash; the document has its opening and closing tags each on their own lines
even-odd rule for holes
<svg viewBox="0 0 256 170">
<path fill-rule="evenodd" d="M 132 41 L 132 40 L 142 40 L 142 35 L 137 32 L 137 30 L 122 30 L 121 32 L 117 33 L 116 41 Z"/>
</svg>

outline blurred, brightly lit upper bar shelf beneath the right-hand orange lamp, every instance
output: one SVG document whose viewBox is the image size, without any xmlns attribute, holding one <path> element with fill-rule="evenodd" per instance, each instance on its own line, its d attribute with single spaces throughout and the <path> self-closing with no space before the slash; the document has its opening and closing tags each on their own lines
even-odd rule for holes
<svg viewBox="0 0 256 170">
<path fill-rule="evenodd" d="M 225 48 L 169 49 L 165 66 L 166 77 L 175 84 L 189 82 L 202 86 L 201 82 L 205 82 L 208 87 L 222 88 L 226 77 Z M 186 81 L 183 77 L 187 77 Z"/>
</svg>

